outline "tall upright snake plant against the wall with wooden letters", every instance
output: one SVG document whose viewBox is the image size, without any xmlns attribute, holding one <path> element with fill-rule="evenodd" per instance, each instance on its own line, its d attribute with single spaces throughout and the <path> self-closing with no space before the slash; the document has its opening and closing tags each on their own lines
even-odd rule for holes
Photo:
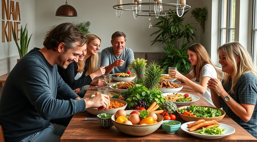
<svg viewBox="0 0 257 142">
<path fill-rule="evenodd" d="M 30 38 L 28 39 L 28 30 L 27 30 L 27 24 L 24 28 L 24 30 L 22 29 L 22 26 L 21 26 L 21 31 L 20 31 L 20 46 L 17 42 L 17 36 L 16 36 L 16 33 L 15 31 L 13 30 L 13 39 L 17 45 L 17 48 L 18 48 L 18 51 L 19 51 L 19 55 L 20 55 L 20 58 L 22 58 L 24 55 L 27 54 L 28 52 L 28 46 L 29 46 L 29 43 L 30 43 L 30 38 L 31 38 L 31 35 L 30 35 Z"/>
</svg>

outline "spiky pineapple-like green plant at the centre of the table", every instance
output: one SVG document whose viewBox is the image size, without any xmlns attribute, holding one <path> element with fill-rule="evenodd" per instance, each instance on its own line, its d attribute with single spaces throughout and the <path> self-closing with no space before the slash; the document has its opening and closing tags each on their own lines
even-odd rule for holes
<svg viewBox="0 0 257 142">
<path fill-rule="evenodd" d="M 148 89 L 156 89 L 161 81 L 164 70 L 155 62 L 151 62 L 145 69 L 145 80 L 143 85 Z"/>
</svg>

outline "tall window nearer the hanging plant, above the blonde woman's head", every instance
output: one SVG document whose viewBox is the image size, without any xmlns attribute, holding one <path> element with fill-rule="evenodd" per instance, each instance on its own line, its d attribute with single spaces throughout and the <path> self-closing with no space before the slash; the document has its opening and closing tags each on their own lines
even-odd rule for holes
<svg viewBox="0 0 257 142">
<path fill-rule="evenodd" d="M 219 46 L 235 40 L 235 0 L 221 0 Z"/>
</svg>

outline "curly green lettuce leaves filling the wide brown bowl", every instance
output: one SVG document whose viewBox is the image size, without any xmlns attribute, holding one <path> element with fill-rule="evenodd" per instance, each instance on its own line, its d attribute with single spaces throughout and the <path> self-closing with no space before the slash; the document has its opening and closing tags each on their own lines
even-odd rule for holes
<svg viewBox="0 0 257 142">
<path fill-rule="evenodd" d="M 183 109 L 178 109 L 179 113 L 183 113 L 184 111 L 191 111 L 192 114 L 196 115 L 197 117 L 218 117 L 221 116 L 222 113 L 218 109 L 213 109 L 209 107 L 202 107 L 192 104 Z"/>
</svg>

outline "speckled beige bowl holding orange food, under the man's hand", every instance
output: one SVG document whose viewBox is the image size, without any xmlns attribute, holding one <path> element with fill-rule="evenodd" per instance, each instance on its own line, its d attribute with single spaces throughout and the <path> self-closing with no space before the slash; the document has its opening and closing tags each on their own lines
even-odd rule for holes
<svg viewBox="0 0 257 142">
<path fill-rule="evenodd" d="M 87 108 L 86 111 L 88 113 L 91 113 L 92 115 L 99 115 L 101 113 L 112 113 L 112 114 L 115 114 L 116 111 L 118 111 L 119 109 L 125 109 L 126 106 L 127 106 L 127 102 L 124 101 L 124 100 L 120 100 L 120 99 L 115 99 L 115 98 L 112 98 L 110 100 L 113 100 L 113 101 L 117 101 L 119 103 L 122 103 L 124 104 L 123 107 L 120 107 L 120 108 L 117 108 L 117 109 L 107 109 L 107 110 L 104 110 L 104 111 L 98 111 L 97 109 L 93 109 L 93 108 Z"/>
</svg>

